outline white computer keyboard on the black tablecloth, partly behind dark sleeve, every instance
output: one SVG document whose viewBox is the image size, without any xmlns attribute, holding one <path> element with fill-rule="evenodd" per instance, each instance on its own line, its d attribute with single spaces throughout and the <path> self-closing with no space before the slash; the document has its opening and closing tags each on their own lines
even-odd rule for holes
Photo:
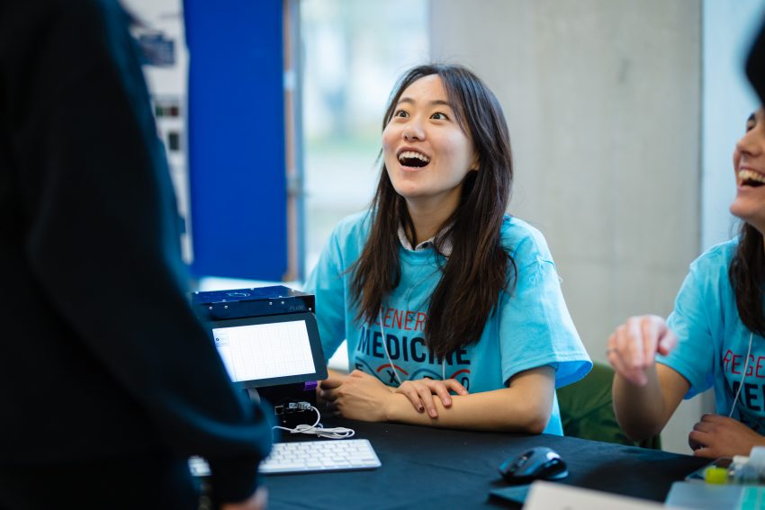
<svg viewBox="0 0 765 510">
<path fill-rule="evenodd" d="M 263 474 L 304 473 L 310 471 L 372 470 L 382 464 L 366 439 L 333 439 L 275 443 L 274 450 L 257 469 Z M 197 477 L 210 475 L 200 457 L 189 459 L 189 469 Z"/>
</svg>

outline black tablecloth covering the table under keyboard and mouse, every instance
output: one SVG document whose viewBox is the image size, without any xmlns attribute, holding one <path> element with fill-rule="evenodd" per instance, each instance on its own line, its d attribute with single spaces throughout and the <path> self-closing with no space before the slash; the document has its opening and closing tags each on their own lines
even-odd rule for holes
<svg viewBox="0 0 765 510">
<path fill-rule="evenodd" d="M 269 508 L 498 508 L 520 507 L 489 496 L 509 487 L 498 466 L 533 446 L 549 446 L 569 467 L 557 483 L 663 501 L 673 481 L 708 461 L 618 444 L 554 435 L 465 432 L 398 424 L 322 419 L 369 439 L 377 470 L 270 475 Z M 285 434 L 279 441 L 317 440 Z"/>
</svg>

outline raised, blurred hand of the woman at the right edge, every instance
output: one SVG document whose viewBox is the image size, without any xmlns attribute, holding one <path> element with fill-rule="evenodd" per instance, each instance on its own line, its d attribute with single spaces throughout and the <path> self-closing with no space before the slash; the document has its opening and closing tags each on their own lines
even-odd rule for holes
<svg viewBox="0 0 765 510">
<path fill-rule="evenodd" d="M 663 318 L 644 315 L 628 318 L 608 338 L 608 362 L 617 374 L 636 386 L 648 382 L 647 371 L 653 367 L 656 353 L 669 354 L 678 337 Z"/>
</svg>

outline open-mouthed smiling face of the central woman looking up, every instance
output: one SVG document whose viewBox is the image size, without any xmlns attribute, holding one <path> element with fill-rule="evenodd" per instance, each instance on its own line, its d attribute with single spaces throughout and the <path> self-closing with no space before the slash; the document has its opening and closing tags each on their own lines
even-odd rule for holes
<svg viewBox="0 0 765 510">
<path fill-rule="evenodd" d="M 460 128 L 438 75 L 419 78 L 399 98 L 383 130 L 385 168 L 414 203 L 454 210 L 465 175 L 477 169 L 473 140 Z"/>
</svg>

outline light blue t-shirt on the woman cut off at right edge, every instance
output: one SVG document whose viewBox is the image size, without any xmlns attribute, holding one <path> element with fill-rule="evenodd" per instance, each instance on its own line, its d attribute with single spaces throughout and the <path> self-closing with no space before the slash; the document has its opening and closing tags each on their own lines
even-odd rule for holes
<svg viewBox="0 0 765 510">
<path fill-rule="evenodd" d="M 658 361 L 689 380 L 685 398 L 715 389 L 716 412 L 728 416 L 743 379 L 734 417 L 765 434 L 765 343 L 752 337 L 746 374 L 743 367 L 751 332 L 736 309 L 728 267 L 737 239 L 711 247 L 692 264 L 667 323 L 678 345 Z"/>
</svg>

